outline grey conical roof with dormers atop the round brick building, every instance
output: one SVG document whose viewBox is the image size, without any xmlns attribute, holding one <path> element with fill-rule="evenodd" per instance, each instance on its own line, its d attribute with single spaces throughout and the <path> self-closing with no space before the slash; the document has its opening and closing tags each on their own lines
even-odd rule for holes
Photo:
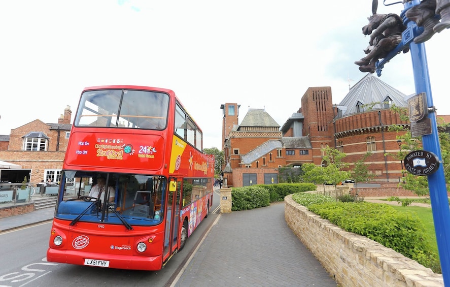
<svg viewBox="0 0 450 287">
<path fill-rule="evenodd" d="M 367 74 L 358 83 L 356 83 L 345 98 L 339 103 L 339 106 L 346 107 L 342 109 L 342 116 L 361 112 L 358 105 L 372 105 L 372 110 L 386 108 L 385 102 L 389 106 L 393 104 L 397 107 L 406 107 L 408 104 L 404 100 L 406 95 L 390 85 L 386 84 L 373 74 Z M 381 104 L 380 104 L 381 103 Z"/>
</svg>

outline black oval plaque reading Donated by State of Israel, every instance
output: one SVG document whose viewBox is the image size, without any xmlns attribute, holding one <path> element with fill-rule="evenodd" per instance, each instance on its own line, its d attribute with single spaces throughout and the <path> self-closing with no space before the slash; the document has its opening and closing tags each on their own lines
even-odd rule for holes
<svg viewBox="0 0 450 287">
<path fill-rule="evenodd" d="M 426 150 L 414 150 L 404 159 L 405 169 L 414 175 L 430 175 L 439 168 L 439 158 Z"/>
</svg>

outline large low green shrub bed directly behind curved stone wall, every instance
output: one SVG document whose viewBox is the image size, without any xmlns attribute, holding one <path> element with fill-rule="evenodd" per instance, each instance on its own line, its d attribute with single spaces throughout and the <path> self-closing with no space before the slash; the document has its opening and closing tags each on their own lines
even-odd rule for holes
<svg viewBox="0 0 450 287">
<path fill-rule="evenodd" d="M 426 267 L 436 265 L 437 254 L 430 251 L 425 228 L 415 214 L 368 202 L 324 203 L 307 208 L 345 231 L 370 238 Z"/>
</svg>

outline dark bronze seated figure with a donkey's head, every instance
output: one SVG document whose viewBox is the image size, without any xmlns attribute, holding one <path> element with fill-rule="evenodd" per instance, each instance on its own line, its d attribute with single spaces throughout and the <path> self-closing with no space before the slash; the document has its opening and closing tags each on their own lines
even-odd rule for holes
<svg viewBox="0 0 450 287">
<path fill-rule="evenodd" d="M 447 0 L 450 1 L 450 0 Z M 367 54 L 355 64 L 361 72 L 375 72 L 375 62 L 386 57 L 402 40 L 402 32 L 406 29 L 397 14 L 376 14 L 378 1 L 372 1 L 372 16 L 369 23 L 362 28 L 364 35 L 370 35 L 369 46 L 364 50 Z M 406 47 L 403 53 L 409 51 Z"/>
</svg>

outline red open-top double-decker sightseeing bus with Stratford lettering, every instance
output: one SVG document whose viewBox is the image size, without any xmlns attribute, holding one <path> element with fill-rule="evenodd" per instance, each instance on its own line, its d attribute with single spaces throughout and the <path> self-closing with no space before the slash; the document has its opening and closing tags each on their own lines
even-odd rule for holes
<svg viewBox="0 0 450 287">
<path fill-rule="evenodd" d="M 159 270 L 207 216 L 214 157 L 169 89 L 83 90 L 47 261 Z"/>
</svg>

